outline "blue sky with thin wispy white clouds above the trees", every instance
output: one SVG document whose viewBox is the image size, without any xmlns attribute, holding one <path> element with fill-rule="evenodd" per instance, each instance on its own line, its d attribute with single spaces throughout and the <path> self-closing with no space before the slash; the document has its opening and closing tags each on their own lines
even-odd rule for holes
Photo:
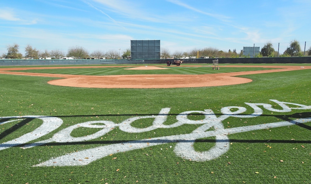
<svg viewBox="0 0 311 184">
<path fill-rule="evenodd" d="M 125 50 L 130 40 L 161 40 L 161 48 L 207 47 L 239 53 L 243 46 L 290 41 L 311 46 L 310 0 L 2 0 L 0 55 L 14 43 L 25 54 L 82 46 Z"/>
</svg>

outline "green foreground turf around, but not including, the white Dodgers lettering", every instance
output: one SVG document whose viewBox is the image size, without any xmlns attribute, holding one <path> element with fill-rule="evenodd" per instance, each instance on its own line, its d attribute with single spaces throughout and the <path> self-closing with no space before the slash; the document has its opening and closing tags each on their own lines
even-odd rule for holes
<svg viewBox="0 0 311 184">
<path fill-rule="evenodd" d="M 188 74 L 188 70 L 182 69 L 174 67 L 173 72 Z M 202 73 L 201 69 L 191 68 L 191 71 L 199 74 Z M 220 66 L 220 70 L 225 68 Z M 86 74 L 91 71 L 72 70 L 72 73 Z M 172 72 L 172 69 L 169 71 Z M 120 68 L 110 73 L 118 72 Z M 170 111 L 165 125 L 177 122 L 176 116 L 185 111 L 211 109 L 220 117 L 223 107 L 241 106 L 247 109 L 243 114 L 253 113 L 254 110 L 244 102 L 272 104 L 276 109 L 281 107 L 270 99 L 311 106 L 310 72 L 306 69 L 245 75 L 241 77 L 250 78 L 253 82 L 221 87 L 169 89 L 62 87 L 47 84 L 47 81 L 55 78 L 0 74 L 0 117 L 39 115 L 63 120 L 58 129 L 31 141 L 37 142 L 86 121 L 109 120 L 121 123 L 132 117 L 156 116 L 162 108 L 167 107 L 170 107 Z M 225 129 L 230 129 L 309 117 L 310 109 L 292 109 L 290 112 L 263 110 L 261 116 L 229 117 L 222 124 Z M 193 113 L 188 119 L 200 122 L 204 116 Z M 0 119 L 0 122 L 7 120 Z M 17 139 L 41 125 L 38 119 L 27 120 L 0 125 L 1 142 Z M 151 126 L 153 120 L 136 120 L 131 125 L 145 128 Z M 84 142 L 51 142 L 28 149 L 16 146 L 0 150 L 0 183 L 311 183 L 310 122 L 229 134 L 229 151 L 205 162 L 179 157 L 173 151 L 177 143 L 167 143 L 113 153 L 84 166 L 32 167 L 68 153 L 132 140 L 189 134 L 201 126 L 199 123 L 185 124 L 141 133 L 128 133 L 116 127 L 101 137 Z M 78 127 L 72 130 L 71 135 L 87 136 L 99 130 Z M 215 137 L 206 137 L 197 139 L 193 147 L 202 152 L 214 145 Z"/>
</svg>

